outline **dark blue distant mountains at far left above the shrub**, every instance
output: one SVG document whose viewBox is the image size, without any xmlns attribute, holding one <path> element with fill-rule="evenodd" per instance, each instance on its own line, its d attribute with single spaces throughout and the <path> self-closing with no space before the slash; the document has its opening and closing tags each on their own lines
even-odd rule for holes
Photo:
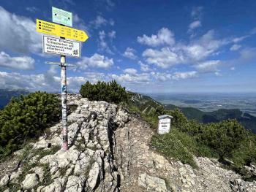
<svg viewBox="0 0 256 192">
<path fill-rule="evenodd" d="M 9 101 L 12 99 L 12 97 L 20 96 L 20 95 L 26 95 L 29 91 L 24 90 L 15 90 L 10 91 L 7 89 L 0 89 L 0 110 L 6 106 Z"/>
</svg>

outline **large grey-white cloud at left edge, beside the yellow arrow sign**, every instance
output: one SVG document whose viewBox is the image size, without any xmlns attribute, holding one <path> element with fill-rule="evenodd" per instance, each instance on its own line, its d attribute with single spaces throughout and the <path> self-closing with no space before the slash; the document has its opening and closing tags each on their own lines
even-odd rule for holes
<svg viewBox="0 0 256 192">
<path fill-rule="evenodd" d="M 0 49 L 16 53 L 38 53 L 42 50 L 42 35 L 30 18 L 7 12 L 0 6 Z"/>
</svg>

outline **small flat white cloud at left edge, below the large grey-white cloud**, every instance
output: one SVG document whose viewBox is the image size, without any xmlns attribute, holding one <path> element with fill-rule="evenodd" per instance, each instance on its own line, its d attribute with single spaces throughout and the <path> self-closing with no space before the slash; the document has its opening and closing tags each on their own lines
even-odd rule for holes
<svg viewBox="0 0 256 192">
<path fill-rule="evenodd" d="M 11 57 L 3 51 L 0 52 L 0 66 L 11 69 L 34 69 L 34 59 L 28 56 Z"/>
</svg>

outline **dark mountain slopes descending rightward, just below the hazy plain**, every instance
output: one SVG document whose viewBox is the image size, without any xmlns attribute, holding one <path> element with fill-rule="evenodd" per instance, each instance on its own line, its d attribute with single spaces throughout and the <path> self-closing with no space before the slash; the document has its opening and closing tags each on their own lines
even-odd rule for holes
<svg viewBox="0 0 256 192">
<path fill-rule="evenodd" d="M 157 110 L 157 107 L 165 107 L 165 110 L 178 108 L 189 120 L 197 120 L 200 123 L 216 123 L 222 120 L 236 119 L 244 128 L 256 134 L 256 117 L 238 109 L 220 109 L 213 112 L 203 112 L 193 107 L 178 107 L 173 104 L 161 104 L 149 96 L 143 96 L 138 93 L 132 96 L 132 103 L 145 113 Z"/>
</svg>

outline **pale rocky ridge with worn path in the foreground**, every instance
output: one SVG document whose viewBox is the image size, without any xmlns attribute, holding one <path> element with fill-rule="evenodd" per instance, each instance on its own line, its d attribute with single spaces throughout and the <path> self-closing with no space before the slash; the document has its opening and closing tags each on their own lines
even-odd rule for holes
<svg viewBox="0 0 256 192">
<path fill-rule="evenodd" d="M 150 126 L 116 104 L 73 94 L 68 106 L 69 150 L 60 149 L 61 123 L 50 127 L 15 153 L 0 191 L 256 191 L 214 159 L 195 158 L 198 169 L 167 160 L 149 147 Z"/>
</svg>

